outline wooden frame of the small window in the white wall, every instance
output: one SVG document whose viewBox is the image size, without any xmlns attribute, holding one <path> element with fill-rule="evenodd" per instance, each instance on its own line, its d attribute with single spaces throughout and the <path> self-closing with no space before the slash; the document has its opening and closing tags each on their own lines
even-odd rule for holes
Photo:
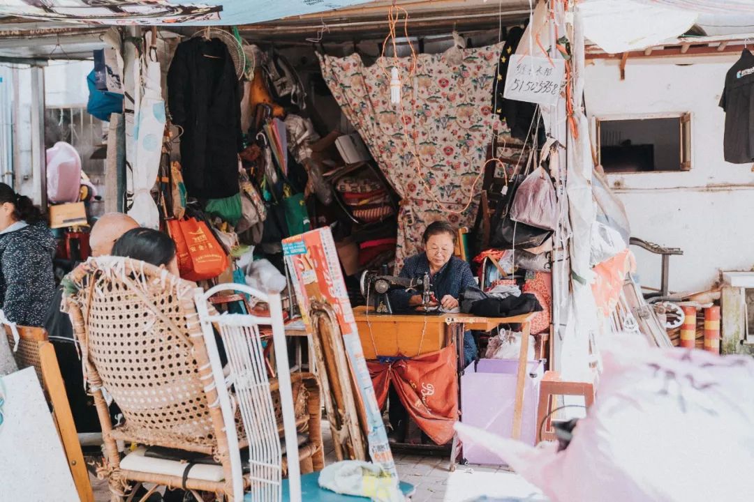
<svg viewBox="0 0 754 502">
<path fill-rule="evenodd" d="M 648 114 L 605 114 L 592 117 L 592 144 L 595 145 L 595 158 L 602 165 L 601 123 L 617 122 L 618 120 L 654 120 L 674 118 L 679 120 L 679 159 L 680 169 L 659 171 L 605 171 L 605 175 L 646 175 L 653 173 L 688 172 L 691 171 L 691 111 L 661 112 Z"/>
</svg>

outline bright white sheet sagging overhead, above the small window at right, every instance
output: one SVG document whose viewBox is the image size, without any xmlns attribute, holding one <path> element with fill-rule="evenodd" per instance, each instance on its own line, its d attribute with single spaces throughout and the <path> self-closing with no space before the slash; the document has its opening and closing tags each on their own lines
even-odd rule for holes
<svg viewBox="0 0 754 502">
<path fill-rule="evenodd" d="M 699 14 L 690 9 L 661 5 L 668 3 L 648 4 L 635 0 L 582 2 L 579 11 L 584 20 L 584 36 L 610 54 L 641 50 L 675 38 L 688 31 Z"/>
</svg>

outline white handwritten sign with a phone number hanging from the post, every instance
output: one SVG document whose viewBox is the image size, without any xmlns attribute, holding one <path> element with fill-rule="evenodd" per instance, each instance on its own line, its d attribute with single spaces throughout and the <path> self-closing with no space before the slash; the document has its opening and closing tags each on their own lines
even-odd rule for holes
<svg viewBox="0 0 754 502">
<path fill-rule="evenodd" d="M 563 79 L 566 62 L 536 56 L 513 56 L 505 77 L 505 99 L 555 105 Z"/>
</svg>

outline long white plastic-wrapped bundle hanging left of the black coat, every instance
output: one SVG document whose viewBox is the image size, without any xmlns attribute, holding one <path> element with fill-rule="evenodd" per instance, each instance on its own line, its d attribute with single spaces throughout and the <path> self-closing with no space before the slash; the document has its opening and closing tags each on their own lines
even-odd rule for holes
<svg viewBox="0 0 754 502">
<path fill-rule="evenodd" d="M 146 33 L 146 47 L 152 44 L 152 33 Z M 162 136 L 165 128 L 165 103 L 160 87 L 160 62 L 157 50 L 149 48 L 133 65 L 134 114 L 133 205 L 130 217 L 143 227 L 158 228 L 160 214 L 150 190 L 155 185 L 162 155 Z"/>
</svg>

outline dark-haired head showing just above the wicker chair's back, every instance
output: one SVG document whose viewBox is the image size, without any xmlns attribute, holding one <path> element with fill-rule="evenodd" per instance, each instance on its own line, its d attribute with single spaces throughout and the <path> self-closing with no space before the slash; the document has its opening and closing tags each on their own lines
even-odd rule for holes
<svg viewBox="0 0 754 502">
<path fill-rule="evenodd" d="M 115 241 L 112 255 L 141 260 L 179 275 L 176 244 L 170 236 L 158 230 L 145 227 L 128 230 Z"/>
</svg>

